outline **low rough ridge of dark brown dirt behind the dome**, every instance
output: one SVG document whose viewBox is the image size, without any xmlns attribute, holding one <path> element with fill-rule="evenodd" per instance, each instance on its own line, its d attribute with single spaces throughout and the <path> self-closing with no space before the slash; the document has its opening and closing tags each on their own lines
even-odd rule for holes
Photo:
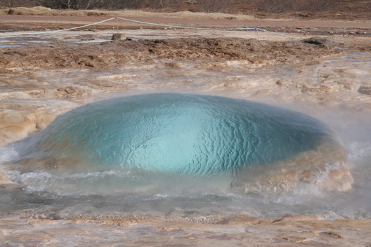
<svg viewBox="0 0 371 247">
<path fill-rule="evenodd" d="M 330 44 L 330 42 L 327 42 Z M 334 44 L 332 42 L 331 44 Z M 110 68 L 131 62 L 169 60 L 267 60 L 287 62 L 287 56 L 311 60 L 339 51 L 332 45 L 318 46 L 313 42 L 259 41 L 257 39 L 148 39 L 107 41 L 102 44 L 70 46 L 23 46 L 5 48 L 0 53 L 1 67 L 95 67 Z"/>
</svg>

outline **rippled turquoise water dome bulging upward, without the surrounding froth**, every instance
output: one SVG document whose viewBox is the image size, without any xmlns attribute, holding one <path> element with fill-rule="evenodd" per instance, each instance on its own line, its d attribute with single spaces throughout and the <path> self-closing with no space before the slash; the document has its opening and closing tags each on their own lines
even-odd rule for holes
<svg viewBox="0 0 371 247">
<path fill-rule="evenodd" d="M 41 131 L 26 156 L 213 175 L 291 159 L 335 139 L 324 123 L 287 109 L 162 93 L 77 107 Z"/>
</svg>

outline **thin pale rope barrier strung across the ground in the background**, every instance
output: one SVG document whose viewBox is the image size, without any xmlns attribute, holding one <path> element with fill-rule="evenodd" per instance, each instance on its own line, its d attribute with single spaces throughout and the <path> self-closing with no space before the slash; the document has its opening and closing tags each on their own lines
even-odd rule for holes
<svg viewBox="0 0 371 247">
<path fill-rule="evenodd" d="M 11 32 L 11 33 L 0 33 L 0 36 L 15 36 L 15 35 L 33 35 L 33 34 L 49 34 L 49 33 L 55 33 L 55 32 L 63 32 L 63 31 L 69 31 L 73 29 L 79 29 L 82 27 L 90 27 L 93 25 L 98 25 L 103 22 L 108 22 L 110 20 L 117 20 L 117 28 L 118 28 L 118 20 L 125 20 L 129 22 L 136 22 L 136 23 L 141 23 L 145 25 L 154 25 L 154 26 L 160 26 L 160 27 L 172 27 L 172 28 L 181 28 L 181 29 L 198 29 L 198 30 L 216 30 L 216 31 L 241 31 L 241 30 L 256 30 L 256 31 L 262 31 L 262 32 L 268 32 L 273 35 L 278 35 L 278 36 L 284 36 L 286 38 L 290 39 L 300 39 L 294 36 L 289 36 L 285 34 L 278 34 L 277 32 L 272 32 L 268 31 L 266 29 L 261 29 L 259 27 L 234 27 L 234 28 L 214 28 L 214 27 L 185 27 L 185 26 L 178 26 L 178 25 L 167 25 L 167 24 L 159 24 L 159 23 L 153 23 L 153 22 L 143 22 L 141 20 L 131 20 L 127 18 L 121 18 L 121 17 L 114 17 L 114 18 L 109 18 L 107 20 L 101 20 L 99 22 L 94 22 L 88 25 L 82 25 L 79 27 L 70 27 L 66 29 L 58 29 L 58 30 L 50 30 L 50 31 L 39 31 L 39 32 Z M 117 30 L 118 31 L 118 30 Z"/>
</svg>

